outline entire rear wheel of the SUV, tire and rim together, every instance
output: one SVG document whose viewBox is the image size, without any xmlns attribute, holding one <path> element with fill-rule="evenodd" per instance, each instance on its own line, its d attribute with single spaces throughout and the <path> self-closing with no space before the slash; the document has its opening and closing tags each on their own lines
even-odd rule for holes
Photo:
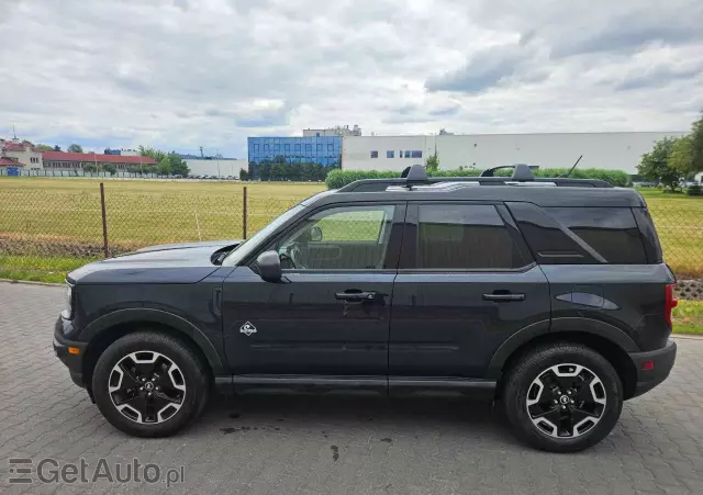
<svg viewBox="0 0 703 495">
<path fill-rule="evenodd" d="M 576 452 L 605 438 L 623 407 L 611 363 L 578 344 L 533 349 L 507 372 L 505 415 L 516 436 L 551 452 Z"/>
</svg>

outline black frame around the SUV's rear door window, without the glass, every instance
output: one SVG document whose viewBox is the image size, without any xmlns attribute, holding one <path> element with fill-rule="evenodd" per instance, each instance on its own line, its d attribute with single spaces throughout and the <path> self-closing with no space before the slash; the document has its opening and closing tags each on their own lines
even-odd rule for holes
<svg viewBox="0 0 703 495">
<path fill-rule="evenodd" d="M 507 235 L 515 244 L 515 248 L 522 255 L 525 260 L 525 265 L 522 267 L 513 268 L 417 268 L 417 247 L 420 241 L 419 224 L 420 224 L 420 206 L 422 205 L 448 205 L 459 204 L 464 206 L 493 206 L 498 213 L 498 216 L 503 221 L 503 225 Z M 512 225 L 512 222 L 506 221 L 501 212 L 501 206 L 505 209 L 505 205 L 501 201 L 411 201 L 408 204 L 408 212 L 405 213 L 405 234 L 403 236 L 403 245 L 400 254 L 400 263 L 398 266 L 398 273 L 523 273 L 532 270 L 537 266 L 537 262 L 529 254 L 523 250 L 523 244 L 526 246 L 520 230 Z M 513 233 L 515 228 L 521 240 L 516 241 Z"/>
</svg>

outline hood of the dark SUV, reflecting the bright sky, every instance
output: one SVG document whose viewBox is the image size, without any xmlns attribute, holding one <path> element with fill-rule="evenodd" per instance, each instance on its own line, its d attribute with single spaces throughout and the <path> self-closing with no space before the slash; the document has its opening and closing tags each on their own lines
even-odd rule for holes
<svg viewBox="0 0 703 495">
<path fill-rule="evenodd" d="M 215 271 L 212 255 L 241 240 L 169 244 L 86 265 L 67 279 L 86 283 L 196 283 Z"/>
</svg>

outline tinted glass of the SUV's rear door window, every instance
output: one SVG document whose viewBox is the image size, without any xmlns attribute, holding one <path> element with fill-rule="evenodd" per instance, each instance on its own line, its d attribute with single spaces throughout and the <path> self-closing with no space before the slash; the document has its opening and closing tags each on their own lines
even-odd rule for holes
<svg viewBox="0 0 703 495">
<path fill-rule="evenodd" d="M 495 206 L 419 205 L 417 268 L 477 270 L 524 265 Z"/>
</svg>

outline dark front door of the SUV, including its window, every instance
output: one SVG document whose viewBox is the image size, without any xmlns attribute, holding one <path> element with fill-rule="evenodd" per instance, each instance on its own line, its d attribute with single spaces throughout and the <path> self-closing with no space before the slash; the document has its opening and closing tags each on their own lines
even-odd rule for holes
<svg viewBox="0 0 703 495">
<path fill-rule="evenodd" d="M 255 263 L 224 281 L 224 345 L 234 374 L 386 379 L 390 303 L 404 204 L 328 206 L 269 243 L 283 279 Z"/>
</svg>

